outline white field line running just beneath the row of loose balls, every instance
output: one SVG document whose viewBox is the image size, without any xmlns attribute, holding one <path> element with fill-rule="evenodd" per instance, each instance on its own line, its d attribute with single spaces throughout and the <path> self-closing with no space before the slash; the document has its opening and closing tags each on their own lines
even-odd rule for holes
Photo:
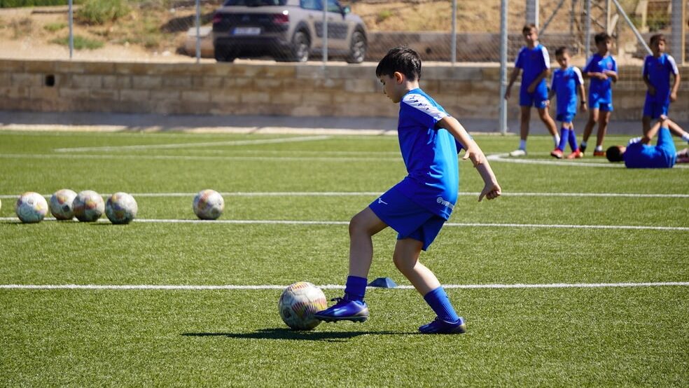
<svg viewBox="0 0 689 388">
<path fill-rule="evenodd" d="M 0 221 L 19 221 L 15 217 L 0 217 Z M 57 221 L 46 218 L 43 221 Z M 63 221 L 70 222 L 70 221 Z M 71 221 L 76 222 L 76 221 Z M 109 223 L 107 219 L 98 222 Z M 349 221 L 301 221 L 301 220 L 201 220 L 201 219 L 134 219 L 136 223 L 193 223 L 204 225 L 232 224 L 232 225 L 325 225 L 344 226 Z M 561 229 L 613 229 L 613 230 L 678 230 L 689 231 L 684 226 L 637 226 L 637 225 L 562 225 L 549 223 L 445 223 L 446 227 L 455 228 L 561 228 Z"/>
</svg>

